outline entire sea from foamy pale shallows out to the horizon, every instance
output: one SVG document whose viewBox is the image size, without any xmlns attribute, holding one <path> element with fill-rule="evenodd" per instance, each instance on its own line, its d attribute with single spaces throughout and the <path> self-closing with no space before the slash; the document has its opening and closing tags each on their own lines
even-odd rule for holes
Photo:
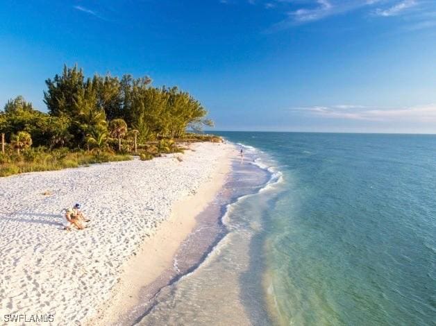
<svg viewBox="0 0 436 326">
<path fill-rule="evenodd" d="M 220 236 L 139 325 L 435 325 L 435 136 L 216 133 Z"/>
</svg>

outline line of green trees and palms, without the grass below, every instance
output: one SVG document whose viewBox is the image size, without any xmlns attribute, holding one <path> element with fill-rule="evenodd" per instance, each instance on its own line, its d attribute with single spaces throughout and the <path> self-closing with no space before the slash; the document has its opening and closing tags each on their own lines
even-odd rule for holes
<svg viewBox="0 0 436 326">
<path fill-rule="evenodd" d="M 48 113 L 17 96 L 0 112 L 0 132 L 17 151 L 48 148 L 107 148 L 121 151 L 123 139 L 138 142 L 180 138 L 186 130 L 212 126 L 207 111 L 177 87 L 153 87 L 151 79 L 94 75 L 77 66 L 46 80 Z M 21 139 L 21 140 L 20 140 Z"/>
</svg>

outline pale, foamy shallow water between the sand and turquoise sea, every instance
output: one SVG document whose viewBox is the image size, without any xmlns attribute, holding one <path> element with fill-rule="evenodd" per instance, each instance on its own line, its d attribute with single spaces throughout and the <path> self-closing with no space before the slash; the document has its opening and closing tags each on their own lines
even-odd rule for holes
<svg viewBox="0 0 436 326">
<path fill-rule="evenodd" d="M 258 268 L 250 268 L 249 251 L 253 236 L 262 228 L 257 214 L 251 214 L 251 209 L 258 209 L 260 205 L 253 198 L 271 175 L 254 164 L 255 151 L 250 152 L 244 155 L 243 161 L 234 160 L 233 172 L 215 203 L 197 217 L 199 225 L 181 246 L 175 259 L 176 268 L 192 266 L 191 252 L 201 250 L 202 243 L 207 243 L 210 235 L 215 234 L 216 241 L 206 251 L 206 257 L 194 265 L 194 271 L 161 289 L 152 300 L 151 309 L 137 325 L 250 325 L 252 314 L 246 308 L 253 307 L 267 325 L 268 315 L 259 282 L 262 275 Z M 231 218 L 234 214 L 239 218 Z M 219 232 L 208 225 L 207 221 L 214 218 L 220 222 Z M 253 275 L 249 275 L 252 271 Z M 246 297 L 248 289 L 240 288 L 243 277 L 250 277 L 251 282 L 256 283 Z M 249 304 L 245 304 L 247 300 Z"/>
</svg>

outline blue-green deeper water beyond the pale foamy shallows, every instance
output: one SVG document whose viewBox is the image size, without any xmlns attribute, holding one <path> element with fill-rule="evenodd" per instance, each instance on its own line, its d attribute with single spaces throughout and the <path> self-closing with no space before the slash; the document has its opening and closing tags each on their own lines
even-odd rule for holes
<svg viewBox="0 0 436 326">
<path fill-rule="evenodd" d="M 276 321 L 435 325 L 436 137 L 221 135 L 283 173 L 262 232 Z"/>
</svg>

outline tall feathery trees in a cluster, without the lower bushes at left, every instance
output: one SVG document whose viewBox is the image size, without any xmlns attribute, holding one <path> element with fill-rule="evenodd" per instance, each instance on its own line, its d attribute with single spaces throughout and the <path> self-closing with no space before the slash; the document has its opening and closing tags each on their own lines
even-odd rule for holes
<svg viewBox="0 0 436 326">
<path fill-rule="evenodd" d="M 183 137 L 189 128 L 198 131 L 202 126 L 212 126 L 206 119 L 206 109 L 189 93 L 177 87 L 152 87 L 149 77 L 94 75 L 85 79 L 75 66 L 64 67 L 62 75 L 47 79 L 46 84 L 44 102 L 51 116 L 70 119 L 73 146 L 83 146 L 92 133 L 90 128 L 103 132 L 105 121 L 118 119 L 126 122 L 124 135 L 135 129 L 142 143 Z M 112 130 L 110 135 L 119 143 L 124 137 L 114 136 Z"/>
</svg>

